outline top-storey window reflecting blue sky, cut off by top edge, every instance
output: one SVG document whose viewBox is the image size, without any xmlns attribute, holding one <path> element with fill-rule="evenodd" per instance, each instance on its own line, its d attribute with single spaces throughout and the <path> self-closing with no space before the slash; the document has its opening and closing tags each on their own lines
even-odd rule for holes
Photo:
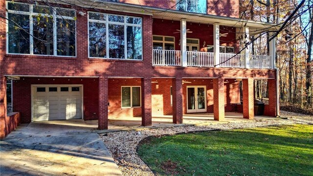
<svg viewBox="0 0 313 176">
<path fill-rule="evenodd" d="M 206 13 L 206 0 L 176 0 L 179 11 Z"/>
</svg>

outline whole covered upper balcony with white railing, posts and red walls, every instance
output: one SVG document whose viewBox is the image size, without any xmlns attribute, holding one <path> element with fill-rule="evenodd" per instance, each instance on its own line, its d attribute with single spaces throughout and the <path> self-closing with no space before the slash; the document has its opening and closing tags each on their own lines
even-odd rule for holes
<svg viewBox="0 0 313 176">
<path fill-rule="evenodd" d="M 167 26 L 166 30 L 162 30 Z M 274 68 L 274 42 L 268 54 L 251 52 L 248 27 L 154 19 L 153 66 Z"/>
</svg>

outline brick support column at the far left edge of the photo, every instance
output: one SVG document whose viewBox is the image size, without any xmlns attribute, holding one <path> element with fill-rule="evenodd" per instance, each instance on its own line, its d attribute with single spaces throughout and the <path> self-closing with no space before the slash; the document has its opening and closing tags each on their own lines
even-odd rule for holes
<svg viewBox="0 0 313 176">
<path fill-rule="evenodd" d="M 6 135 L 6 77 L 0 76 L 0 138 Z"/>
</svg>

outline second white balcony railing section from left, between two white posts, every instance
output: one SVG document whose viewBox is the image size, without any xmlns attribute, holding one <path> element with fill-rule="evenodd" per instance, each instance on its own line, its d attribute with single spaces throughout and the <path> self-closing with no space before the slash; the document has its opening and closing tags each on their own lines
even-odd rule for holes
<svg viewBox="0 0 313 176">
<path fill-rule="evenodd" d="M 187 51 L 187 66 L 213 67 L 213 52 Z"/>
</svg>

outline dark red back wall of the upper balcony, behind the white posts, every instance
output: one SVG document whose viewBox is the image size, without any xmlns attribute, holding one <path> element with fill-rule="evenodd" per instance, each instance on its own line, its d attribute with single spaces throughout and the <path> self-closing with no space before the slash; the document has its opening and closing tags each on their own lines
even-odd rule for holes
<svg viewBox="0 0 313 176">
<path fill-rule="evenodd" d="M 164 30 L 164 26 L 166 26 L 166 30 Z M 178 32 L 177 29 L 180 30 L 179 21 L 156 18 L 153 19 L 153 35 L 175 37 L 175 50 L 180 50 L 180 33 L 174 33 Z M 189 31 L 192 31 L 192 33 L 187 33 L 187 38 L 199 39 L 200 49 L 203 47 L 204 41 L 206 43 L 205 47 L 206 45 L 213 45 L 213 25 L 187 22 L 187 29 L 190 29 Z M 236 47 L 236 28 L 220 26 L 220 31 L 221 33 L 228 33 L 226 37 L 220 37 L 220 45 Z"/>
</svg>

